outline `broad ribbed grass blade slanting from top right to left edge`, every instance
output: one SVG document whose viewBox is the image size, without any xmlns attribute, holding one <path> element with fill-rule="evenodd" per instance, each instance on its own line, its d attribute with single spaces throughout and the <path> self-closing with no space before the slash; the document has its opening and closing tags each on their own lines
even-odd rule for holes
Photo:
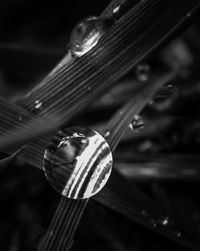
<svg viewBox="0 0 200 251">
<path fill-rule="evenodd" d="M 113 82 L 137 64 L 139 60 L 157 48 L 161 42 L 187 20 L 185 13 L 193 11 L 198 3 L 195 0 L 187 2 L 185 5 L 180 4 L 179 1 L 176 4 L 170 3 L 170 6 L 167 3 L 167 13 L 163 5 L 165 4 L 162 1 L 155 1 L 155 3 L 148 0 L 141 1 L 137 7 L 130 10 L 121 21 L 114 25 L 109 34 L 104 36 L 101 43 L 91 52 L 78 60 L 67 60 L 67 63 L 64 63 L 26 95 L 21 104 L 29 111 L 34 111 L 35 101 L 40 100 L 40 97 L 42 98 L 40 101 L 44 107 L 39 114 L 49 119 L 46 123 L 46 130 L 45 126 L 41 126 L 43 119 L 40 121 L 36 118 L 35 121 L 30 122 L 27 128 L 19 129 L 19 136 L 7 132 L 7 136 L 1 140 L 0 148 L 8 147 L 15 139 L 16 141 L 29 139 L 33 135 L 39 135 L 44 130 L 46 132 L 53 130 L 66 119 L 76 115 L 83 107 L 90 104 L 96 96 L 109 88 Z M 161 10 L 164 11 L 163 15 Z M 161 15 L 160 18 L 158 15 Z M 171 16 L 173 15 L 179 15 L 179 17 L 177 16 L 176 20 L 172 19 Z M 149 27 L 146 23 L 148 19 L 150 20 Z M 142 29 L 143 26 L 145 26 L 145 29 Z M 137 29 L 141 32 L 136 32 Z M 104 55 L 102 48 L 109 53 Z M 87 67 L 92 67 L 90 72 L 87 70 L 87 74 L 84 68 L 86 62 Z M 109 62 L 112 62 L 112 65 Z M 102 67 L 99 67 L 99 65 Z M 83 69 L 85 70 L 83 71 Z M 84 74 L 84 76 L 81 77 L 80 74 Z M 88 91 L 89 89 L 92 92 Z M 9 136 L 10 134 L 11 136 Z M 14 134 L 18 134 L 18 131 Z"/>
</svg>

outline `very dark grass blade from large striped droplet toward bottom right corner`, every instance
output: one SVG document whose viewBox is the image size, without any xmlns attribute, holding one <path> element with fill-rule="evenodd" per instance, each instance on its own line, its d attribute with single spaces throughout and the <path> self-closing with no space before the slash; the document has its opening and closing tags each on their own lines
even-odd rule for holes
<svg viewBox="0 0 200 251">
<path fill-rule="evenodd" d="M 120 185 L 119 185 L 120 184 Z M 163 225 L 163 214 L 160 209 L 149 208 L 147 203 L 138 203 L 137 199 L 132 195 L 134 190 L 132 189 L 132 183 L 129 183 L 127 179 L 118 175 L 117 172 L 113 174 L 109 184 L 102 190 L 101 193 L 95 196 L 95 199 L 99 202 L 104 201 L 104 205 L 108 208 L 118 212 L 126 218 L 141 224 L 142 226 L 151 229 L 159 235 L 165 236 L 169 240 L 172 240 L 185 247 L 194 247 L 195 243 L 187 240 L 182 236 L 177 236 L 178 228 L 173 225 Z M 169 219 L 171 219 L 169 217 Z"/>
</svg>

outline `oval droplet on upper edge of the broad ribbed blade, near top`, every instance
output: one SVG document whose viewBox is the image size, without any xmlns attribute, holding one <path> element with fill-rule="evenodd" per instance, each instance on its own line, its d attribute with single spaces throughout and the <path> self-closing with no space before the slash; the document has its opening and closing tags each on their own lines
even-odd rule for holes
<svg viewBox="0 0 200 251">
<path fill-rule="evenodd" d="M 81 57 L 95 47 L 102 35 L 113 24 L 109 18 L 89 17 L 75 26 L 70 37 L 73 56 Z"/>
</svg>

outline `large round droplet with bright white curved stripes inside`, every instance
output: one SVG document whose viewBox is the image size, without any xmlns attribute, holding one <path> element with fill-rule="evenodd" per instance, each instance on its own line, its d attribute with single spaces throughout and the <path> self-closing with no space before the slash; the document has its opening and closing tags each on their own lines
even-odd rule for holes
<svg viewBox="0 0 200 251">
<path fill-rule="evenodd" d="M 112 152 L 98 132 L 67 128 L 47 147 L 43 169 L 49 183 L 63 196 L 89 198 L 106 184 L 112 169 Z"/>
</svg>

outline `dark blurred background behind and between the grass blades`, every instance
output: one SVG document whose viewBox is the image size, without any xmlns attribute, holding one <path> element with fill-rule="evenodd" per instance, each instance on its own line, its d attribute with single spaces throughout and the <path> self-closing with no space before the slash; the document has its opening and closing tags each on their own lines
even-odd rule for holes
<svg viewBox="0 0 200 251">
<path fill-rule="evenodd" d="M 84 17 L 99 15 L 109 2 L 1 1 L 1 96 L 16 102 L 39 83 L 66 54 L 74 25 Z M 197 15 L 99 97 L 90 109 L 70 122 L 100 130 L 141 82 L 151 81 L 152 74 L 156 75 L 163 67 L 181 68 L 179 76 L 167 83 L 142 114 L 133 119 L 114 159 L 127 182 L 137 186 L 161 209 L 164 222 L 173 222 L 172 231 L 176 224 L 177 235 L 183 235 L 197 247 L 200 245 L 199 58 Z M 40 170 L 21 158 L 12 161 L 0 175 L 1 250 L 37 250 L 59 199 Z M 136 222 L 91 200 L 72 250 L 156 251 L 172 247 L 187 250 Z"/>
</svg>

